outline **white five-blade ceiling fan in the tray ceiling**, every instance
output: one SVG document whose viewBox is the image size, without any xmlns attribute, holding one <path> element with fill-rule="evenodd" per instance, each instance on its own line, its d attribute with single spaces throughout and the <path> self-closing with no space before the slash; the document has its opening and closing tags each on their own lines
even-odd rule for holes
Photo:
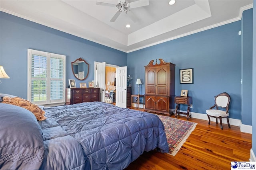
<svg viewBox="0 0 256 170">
<path fill-rule="evenodd" d="M 118 9 L 118 11 L 113 16 L 113 18 L 110 20 L 110 22 L 116 21 L 116 19 L 122 12 L 125 12 L 132 19 L 132 21 L 136 22 L 136 21 L 138 21 L 137 17 L 134 16 L 134 14 L 129 9 L 138 8 L 141 6 L 148 6 L 149 5 L 148 1 L 149 0 L 138 0 L 138 1 L 128 3 L 128 2 L 126 2 L 126 0 L 118 0 L 118 4 L 96 2 L 96 5 L 111 6 L 111 7 L 116 7 Z"/>
</svg>

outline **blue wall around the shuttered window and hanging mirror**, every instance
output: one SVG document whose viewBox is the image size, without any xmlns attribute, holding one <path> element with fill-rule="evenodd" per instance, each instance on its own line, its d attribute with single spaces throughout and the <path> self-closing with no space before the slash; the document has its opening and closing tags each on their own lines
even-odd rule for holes
<svg viewBox="0 0 256 170">
<path fill-rule="evenodd" d="M 94 80 L 94 61 L 127 65 L 127 53 L 0 12 L 0 65 L 10 79 L 1 79 L 0 92 L 27 98 L 27 49 L 66 55 L 68 79 L 76 84 Z M 90 64 L 88 78 L 76 79 L 71 62 L 82 57 Z"/>
</svg>

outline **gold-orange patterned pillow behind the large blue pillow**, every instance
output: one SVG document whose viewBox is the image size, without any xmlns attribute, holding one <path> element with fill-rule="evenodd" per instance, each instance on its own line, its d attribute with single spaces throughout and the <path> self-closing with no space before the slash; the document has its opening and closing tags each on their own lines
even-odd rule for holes
<svg viewBox="0 0 256 170">
<path fill-rule="evenodd" d="M 11 98 L 9 96 L 4 96 L 2 103 L 12 104 L 15 106 L 20 106 L 25 109 L 28 109 L 36 116 L 36 119 L 38 121 L 42 121 L 46 119 L 46 117 L 44 116 L 45 112 L 42 109 L 40 109 L 40 107 L 38 107 L 35 104 L 32 104 L 31 102 L 23 98 L 19 98 L 19 97 Z"/>
</svg>

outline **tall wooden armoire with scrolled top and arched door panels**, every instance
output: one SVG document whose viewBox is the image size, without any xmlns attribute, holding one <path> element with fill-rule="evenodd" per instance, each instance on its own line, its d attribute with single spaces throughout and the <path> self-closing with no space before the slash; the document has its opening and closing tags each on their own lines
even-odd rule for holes
<svg viewBox="0 0 256 170">
<path fill-rule="evenodd" d="M 145 111 L 168 113 L 174 109 L 175 64 L 159 59 L 145 66 Z"/>
</svg>

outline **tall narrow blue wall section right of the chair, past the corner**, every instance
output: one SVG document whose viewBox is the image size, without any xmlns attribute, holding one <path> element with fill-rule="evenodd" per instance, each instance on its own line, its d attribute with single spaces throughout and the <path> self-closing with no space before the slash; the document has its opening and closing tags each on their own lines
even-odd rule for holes
<svg viewBox="0 0 256 170">
<path fill-rule="evenodd" d="M 241 20 L 242 124 L 252 125 L 252 12 L 243 12 Z"/>
</svg>

